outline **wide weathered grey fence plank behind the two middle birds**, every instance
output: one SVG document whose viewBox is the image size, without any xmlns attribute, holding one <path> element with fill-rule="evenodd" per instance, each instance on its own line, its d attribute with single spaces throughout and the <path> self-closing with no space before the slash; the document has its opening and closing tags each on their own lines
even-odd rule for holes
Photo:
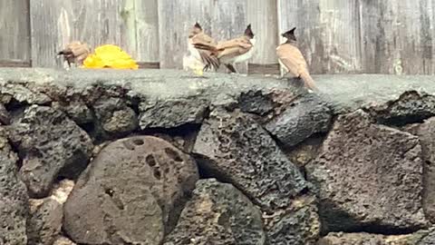
<svg viewBox="0 0 435 245">
<path fill-rule="evenodd" d="M 181 68 L 189 28 L 198 21 L 217 40 L 237 37 L 247 26 L 247 0 L 160 0 L 160 67 Z M 237 66 L 247 72 L 247 64 Z M 225 71 L 225 70 L 224 70 Z"/>
</svg>

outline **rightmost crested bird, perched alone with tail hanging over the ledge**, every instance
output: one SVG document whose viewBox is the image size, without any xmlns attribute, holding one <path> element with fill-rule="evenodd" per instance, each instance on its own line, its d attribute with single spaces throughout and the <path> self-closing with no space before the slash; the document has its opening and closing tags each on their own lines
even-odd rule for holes
<svg viewBox="0 0 435 245">
<path fill-rule="evenodd" d="M 308 65 L 304 59 L 304 55 L 296 46 L 295 28 L 282 34 L 287 40 L 284 44 L 280 44 L 276 48 L 279 64 L 281 64 L 286 73 L 283 77 L 290 73 L 304 81 L 304 86 L 312 91 L 317 91 L 314 80 L 308 72 Z"/>
</svg>

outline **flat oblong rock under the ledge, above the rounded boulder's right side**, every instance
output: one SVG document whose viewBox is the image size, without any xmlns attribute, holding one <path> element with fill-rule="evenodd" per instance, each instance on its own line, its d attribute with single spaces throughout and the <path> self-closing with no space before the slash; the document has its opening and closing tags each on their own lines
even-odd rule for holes
<svg viewBox="0 0 435 245">
<path fill-rule="evenodd" d="M 187 123 L 200 123 L 207 113 L 205 99 L 177 99 L 140 103 L 140 129 L 175 128 Z"/>
</svg>

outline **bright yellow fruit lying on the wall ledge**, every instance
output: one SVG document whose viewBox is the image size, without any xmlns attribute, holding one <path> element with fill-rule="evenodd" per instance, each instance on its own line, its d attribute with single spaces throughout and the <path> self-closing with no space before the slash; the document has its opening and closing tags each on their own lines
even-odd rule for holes
<svg viewBox="0 0 435 245">
<path fill-rule="evenodd" d="M 133 69 L 139 65 L 131 59 L 119 46 L 106 44 L 95 49 L 94 54 L 90 54 L 83 62 L 85 68 L 112 68 L 112 69 Z"/>
</svg>

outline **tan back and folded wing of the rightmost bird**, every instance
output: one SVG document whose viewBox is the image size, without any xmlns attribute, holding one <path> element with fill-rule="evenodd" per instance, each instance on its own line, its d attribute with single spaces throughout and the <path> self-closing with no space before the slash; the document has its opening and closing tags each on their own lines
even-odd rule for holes
<svg viewBox="0 0 435 245">
<path fill-rule="evenodd" d="M 308 65 L 301 51 L 292 44 L 281 44 L 276 49 L 276 55 L 289 73 L 299 77 L 301 73 L 308 72 Z"/>
</svg>

